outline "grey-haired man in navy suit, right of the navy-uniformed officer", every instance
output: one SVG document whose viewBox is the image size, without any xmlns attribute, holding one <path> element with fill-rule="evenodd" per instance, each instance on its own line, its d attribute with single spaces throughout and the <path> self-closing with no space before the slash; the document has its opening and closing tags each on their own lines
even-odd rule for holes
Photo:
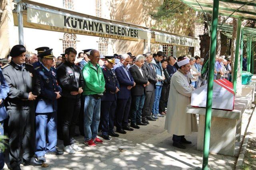
<svg viewBox="0 0 256 170">
<path fill-rule="evenodd" d="M 128 116 L 131 106 L 131 89 L 136 85 L 127 65 L 130 63 L 130 56 L 122 54 L 120 59 L 120 66 L 115 68 L 116 76 L 119 82 L 120 91 L 117 93 L 117 107 L 116 107 L 116 131 L 118 133 L 126 134 L 126 131 L 133 131 L 128 126 Z"/>
</svg>

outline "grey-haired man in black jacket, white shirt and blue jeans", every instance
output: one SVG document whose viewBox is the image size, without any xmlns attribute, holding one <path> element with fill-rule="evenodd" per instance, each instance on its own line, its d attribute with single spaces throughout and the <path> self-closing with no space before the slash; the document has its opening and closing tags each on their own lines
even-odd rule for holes
<svg viewBox="0 0 256 170">
<path fill-rule="evenodd" d="M 143 55 L 138 55 L 135 59 L 134 65 L 129 70 L 136 82 L 134 88 L 132 88 L 132 107 L 131 107 L 131 127 L 139 129 L 138 125 L 147 125 L 141 122 L 141 112 L 145 100 L 145 87 L 149 85 L 148 78 L 142 70 L 142 65 L 145 62 Z"/>
</svg>

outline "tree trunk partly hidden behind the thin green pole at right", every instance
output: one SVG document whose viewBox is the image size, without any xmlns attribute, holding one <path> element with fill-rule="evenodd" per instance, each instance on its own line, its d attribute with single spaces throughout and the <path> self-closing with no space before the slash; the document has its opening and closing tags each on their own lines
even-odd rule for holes
<svg viewBox="0 0 256 170">
<path fill-rule="evenodd" d="M 236 31 L 237 31 L 237 19 L 233 18 L 233 33 L 232 33 L 232 42 L 231 42 L 231 68 L 232 68 L 232 78 L 234 77 L 234 63 L 235 63 L 235 52 L 236 52 Z M 240 50 L 240 48 L 239 48 Z M 242 95 L 242 75 L 240 69 L 240 55 L 238 55 L 238 70 L 236 78 L 236 95 Z"/>
</svg>

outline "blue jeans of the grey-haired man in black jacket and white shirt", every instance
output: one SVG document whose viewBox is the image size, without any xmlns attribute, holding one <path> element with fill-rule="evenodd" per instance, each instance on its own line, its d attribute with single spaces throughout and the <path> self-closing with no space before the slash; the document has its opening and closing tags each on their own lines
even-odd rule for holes
<svg viewBox="0 0 256 170">
<path fill-rule="evenodd" d="M 145 94 L 141 96 L 132 96 L 131 123 L 141 122 L 141 112 L 144 105 Z"/>
</svg>

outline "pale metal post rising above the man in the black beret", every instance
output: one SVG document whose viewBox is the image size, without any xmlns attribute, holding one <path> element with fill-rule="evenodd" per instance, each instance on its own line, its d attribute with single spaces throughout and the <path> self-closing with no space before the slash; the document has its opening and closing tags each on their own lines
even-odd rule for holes
<svg viewBox="0 0 256 170">
<path fill-rule="evenodd" d="M 17 2 L 18 13 L 18 31 L 19 31 L 19 44 L 24 45 L 23 39 L 23 16 L 22 16 L 22 1 Z"/>
</svg>

